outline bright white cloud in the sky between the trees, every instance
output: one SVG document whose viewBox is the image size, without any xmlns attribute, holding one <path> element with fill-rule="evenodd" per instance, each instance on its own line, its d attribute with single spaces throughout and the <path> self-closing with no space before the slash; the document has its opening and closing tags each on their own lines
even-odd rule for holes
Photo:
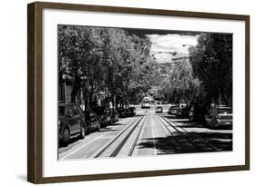
<svg viewBox="0 0 256 186">
<path fill-rule="evenodd" d="M 171 62 L 173 57 L 188 56 L 189 45 L 198 44 L 197 35 L 148 34 L 147 36 L 152 42 L 151 54 L 155 55 L 159 63 Z M 169 52 L 176 52 L 176 55 L 173 56 Z"/>
</svg>

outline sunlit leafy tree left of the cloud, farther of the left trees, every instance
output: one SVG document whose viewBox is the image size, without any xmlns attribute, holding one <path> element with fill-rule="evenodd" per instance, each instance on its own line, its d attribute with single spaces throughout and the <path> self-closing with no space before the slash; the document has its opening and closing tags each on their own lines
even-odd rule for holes
<svg viewBox="0 0 256 186">
<path fill-rule="evenodd" d="M 111 33 L 104 51 L 108 66 L 107 86 L 114 104 L 136 102 L 138 95 L 149 88 L 148 74 L 152 75 L 153 63 L 149 52 L 151 43 L 146 38 L 128 35 L 122 29 L 108 29 Z M 150 72 L 149 72 L 150 71 Z"/>
</svg>

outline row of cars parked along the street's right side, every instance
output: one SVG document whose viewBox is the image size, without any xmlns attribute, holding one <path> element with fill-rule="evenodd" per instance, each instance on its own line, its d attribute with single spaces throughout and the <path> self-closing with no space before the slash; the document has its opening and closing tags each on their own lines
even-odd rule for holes
<svg viewBox="0 0 256 186">
<path fill-rule="evenodd" d="M 214 129 L 221 125 L 232 125 L 232 108 L 226 105 L 214 105 L 209 110 L 204 105 L 172 105 L 169 114 L 179 118 L 189 118 L 189 122 L 203 122 Z"/>
</svg>

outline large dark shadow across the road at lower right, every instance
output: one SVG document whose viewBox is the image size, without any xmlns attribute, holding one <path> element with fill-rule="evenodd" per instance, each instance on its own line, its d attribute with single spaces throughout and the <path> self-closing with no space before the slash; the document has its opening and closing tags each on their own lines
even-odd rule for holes
<svg viewBox="0 0 256 186">
<path fill-rule="evenodd" d="M 143 139 L 138 148 L 156 148 L 158 154 L 229 152 L 232 151 L 232 133 L 189 132 L 184 136 L 173 132 L 173 135 L 166 137 Z"/>
</svg>

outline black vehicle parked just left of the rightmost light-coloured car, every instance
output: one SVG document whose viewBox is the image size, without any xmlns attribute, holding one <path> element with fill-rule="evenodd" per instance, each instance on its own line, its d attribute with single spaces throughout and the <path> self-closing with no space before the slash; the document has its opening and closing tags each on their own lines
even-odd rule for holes
<svg viewBox="0 0 256 186">
<path fill-rule="evenodd" d="M 204 121 L 204 116 L 206 113 L 206 108 L 204 105 L 193 104 L 189 111 L 189 122 L 200 122 Z"/>
</svg>

